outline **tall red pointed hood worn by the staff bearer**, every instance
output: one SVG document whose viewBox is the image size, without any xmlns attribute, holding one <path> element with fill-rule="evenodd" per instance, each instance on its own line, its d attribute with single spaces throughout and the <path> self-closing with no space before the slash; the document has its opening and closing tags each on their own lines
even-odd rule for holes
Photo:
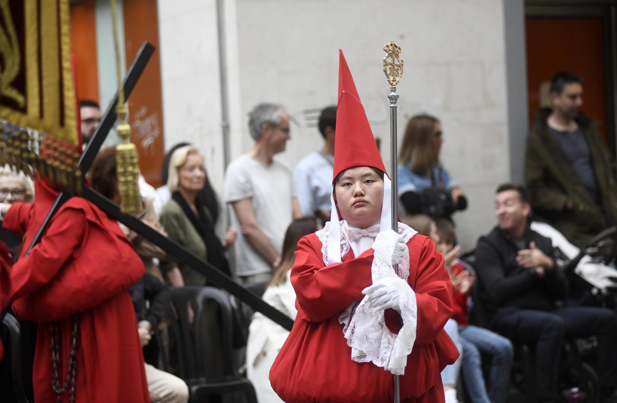
<svg viewBox="0 0 617 403">
<path fill-rule="evenodd" d="M 354 166 L 372 166 L 386 173 L 360 96 L 343 52 L 339 49 L 339 99 L 334 139 L 334 178 Z"/>
</svg>

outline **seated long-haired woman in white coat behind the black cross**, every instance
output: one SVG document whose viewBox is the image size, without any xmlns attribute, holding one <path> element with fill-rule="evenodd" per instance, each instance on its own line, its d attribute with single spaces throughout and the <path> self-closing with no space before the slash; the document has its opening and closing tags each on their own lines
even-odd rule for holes
<svg viewBox="0 0 617 403">
<path fill-rule="evenodd" d="M 296 319 L 296 293 L 289 280 L 291 266 L 296 261 L 295 252 L 300 238 L 312 234 L 317 228 L 317 219 L 305 217 L 289 224 L 283 241 L 281 263 L 276 267 L 270 285 L 263 293 L 263 300 L 279 311 Z M 283 346 L 289 332 L 257 312 L 249 327 L 246 347 L 247 377 L 255 386 L 260 402 L 282 402 L 270 386 L 268 373 Z"/>
</svg>

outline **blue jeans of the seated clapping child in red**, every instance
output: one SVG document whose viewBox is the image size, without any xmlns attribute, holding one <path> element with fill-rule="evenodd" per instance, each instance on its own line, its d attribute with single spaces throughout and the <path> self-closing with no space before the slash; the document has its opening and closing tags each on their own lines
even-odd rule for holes
<svg viewBox="0 0 617 403">
<path fill-rule="evenodd" d="M 468 325 L 458 328 L 463 344 L 463 379 L 472 403 L 504 403 L 514 348 L 509 339 L 485 328 Z M 482 356 L 491 357 L 489 389 L 482 374 Z M 443 375 L 442 375 L 443 377 Z"/>
</svg>

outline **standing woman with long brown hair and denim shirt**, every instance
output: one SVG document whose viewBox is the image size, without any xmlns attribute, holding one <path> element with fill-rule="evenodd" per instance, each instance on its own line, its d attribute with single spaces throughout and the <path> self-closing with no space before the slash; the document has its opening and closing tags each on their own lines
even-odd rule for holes
<svg viewBox="0 0 617 403">
<path fill-rule="evenodd" d="M 450 218 L 467 207 L 463 191 L 439 160 L 443 142 L 441 123 L 434 116 L 416 115 L 407 123 L 397 172 L 400 200 L 408 214 Z"/>
</svg>

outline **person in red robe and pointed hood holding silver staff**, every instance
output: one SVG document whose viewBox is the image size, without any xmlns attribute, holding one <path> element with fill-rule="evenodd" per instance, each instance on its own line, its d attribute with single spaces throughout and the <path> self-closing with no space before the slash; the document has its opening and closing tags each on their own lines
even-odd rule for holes
<svg viewBox="0 0 617 403">
<path fill-rule="evenodd" d="M 402 402 L 444 402 L 440 373 L 458 357 L 443 330 L 454 287 L 430 238 L 390 229 L 391 182 L 339 57 L 333 213 L 298 243 L 298 314 L 270 383 L 288 403 L 384 403 L 395 373 Z"/>
</svg>

